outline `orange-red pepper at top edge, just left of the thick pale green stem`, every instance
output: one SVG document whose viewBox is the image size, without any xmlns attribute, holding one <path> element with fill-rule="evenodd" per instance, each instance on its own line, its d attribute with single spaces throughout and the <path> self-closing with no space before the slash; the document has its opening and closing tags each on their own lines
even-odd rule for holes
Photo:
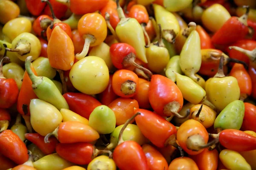
<svg viewBox="0 0 256 170">
<path fill-rule="evenodd" d="M 106 12 L 108 12 L 108 14 L 110 15 L 109 22 L 114 29 L 116 29 L 116 26 L 120 21 L 116 8 L 116 2 L 114 2 L 113 0 L 109 0 L 107 5 L 100 10 L 100 13 L 104 18 Z"/>
</svg>

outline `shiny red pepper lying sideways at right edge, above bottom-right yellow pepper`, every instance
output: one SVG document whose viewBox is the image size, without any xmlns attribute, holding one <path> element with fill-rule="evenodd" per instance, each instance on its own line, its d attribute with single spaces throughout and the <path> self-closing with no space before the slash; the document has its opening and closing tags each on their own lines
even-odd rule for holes
<svg viewBox="0 0 256 170">
<path fill-rule="evenodd" d="M 256 137 L 241 130 L 225 129 L 219 133 L 219 142 L 227 149 L 237 152 L 256 149 Z"/>
</svg>

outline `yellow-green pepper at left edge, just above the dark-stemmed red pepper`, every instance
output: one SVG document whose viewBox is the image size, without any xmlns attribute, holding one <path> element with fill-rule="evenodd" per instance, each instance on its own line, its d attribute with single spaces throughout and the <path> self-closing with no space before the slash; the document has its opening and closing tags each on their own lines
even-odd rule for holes
<svg viewBox="0 0 256 170">
<path fill-rule="evenodd" d="M 11 62 L 3 66 L 3 76 L 7 79 L 14 79 L 20 90 L 22 79 L 24 75 L 24 70 L 20 65 Z"/>
</svg>

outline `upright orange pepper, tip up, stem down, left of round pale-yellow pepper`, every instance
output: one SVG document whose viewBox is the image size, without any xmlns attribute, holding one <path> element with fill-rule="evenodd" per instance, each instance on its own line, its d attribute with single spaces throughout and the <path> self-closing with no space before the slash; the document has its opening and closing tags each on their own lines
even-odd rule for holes
<svg viewBox="0 0 256 170">
<path fill-rule="evenodd" d="M 63 93 L 67 92 L 64 72 L 70 70 L 74 64 L 74 45 L 67 33 L 56 26 L 50 37 L 47 48 L 48 59 L 52 68 L 56 68 L 60 74 Z"/>
</svg>

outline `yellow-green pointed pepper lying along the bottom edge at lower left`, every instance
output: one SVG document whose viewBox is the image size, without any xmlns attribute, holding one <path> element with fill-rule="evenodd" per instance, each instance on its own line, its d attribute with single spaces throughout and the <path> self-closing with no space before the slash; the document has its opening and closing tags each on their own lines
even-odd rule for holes
<svg viewBox="0 0 256 170">
<path fill-rule="evenodd" d="M 52 153 L 33 162 L 33 165 L 37 170 L 63 170 L 64 168 L 73 166 L 74 164 L 61 158 L 58 153 Z"/>
</svg>

